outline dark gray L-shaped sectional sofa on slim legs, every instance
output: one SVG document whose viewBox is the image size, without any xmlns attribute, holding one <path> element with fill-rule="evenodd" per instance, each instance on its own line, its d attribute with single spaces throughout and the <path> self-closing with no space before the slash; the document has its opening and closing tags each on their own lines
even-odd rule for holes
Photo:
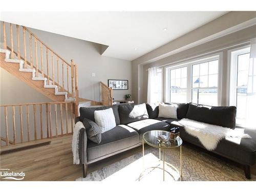
<svg viewBox="0 0 256 192">
<path fill-rule="evenodd" d="M 171 103 L 166 103 L 171 104 Z M 146 104 L 149 118 L 132 118 L 129 114 L 135 104 L 102 106 L 99 108 L 80 108 L 80 117 L 95 121 L 94 111 L 112 108 L 117 126 L 112 130 L 101 134 L 101 142 L 96 144 L 87 139 L 86 131 L 83 129 L 79 135 L 79 157 L 82 164 L 83 177 L 87 175 L 87 165 L 104 158 L 130 150 L 142 144 L 143 133 L 151 130 L 168 131 L 171 127 L 180 127 L 180 137 L 183 141 L 204 148 L 198 138 L 187 134 L 184 127 L 178 123 L 179 119 L 189 118 L 205 123 L 230 127 L 236 125 L 236 107 L 234 106 L 206 106 L 193 103 L 180 103 L 177 109 L 178 119 L 158 118 L 158 106 Z M 241 139 L 240 144 L 223 139 L 216 153 L 244 165 L 245 176 L 250 179 L 250 165 L 256 162 L 256 132 L 245 129 L 251 139 Z"/>
</svg>

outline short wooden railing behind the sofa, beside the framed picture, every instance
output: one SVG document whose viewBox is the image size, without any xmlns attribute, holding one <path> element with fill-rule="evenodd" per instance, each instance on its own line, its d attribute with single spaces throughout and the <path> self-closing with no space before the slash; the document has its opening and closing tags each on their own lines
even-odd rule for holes
<svg viewBox="0 0 256 192">
<path fill-rule="evenodd" d="M 101 104 L 111 106 L 113 104 L 113 90 L 100 81 L 100 98 Z"/>
</svg>

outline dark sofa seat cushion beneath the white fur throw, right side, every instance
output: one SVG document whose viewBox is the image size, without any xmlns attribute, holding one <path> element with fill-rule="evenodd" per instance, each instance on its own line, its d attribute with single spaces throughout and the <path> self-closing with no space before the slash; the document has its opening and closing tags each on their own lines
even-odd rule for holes
<svg viewBox="0 0 256 192">
<path fill-rule="evenodd" d="M 201 144 L 197 137 L 189 135 L 184 127 L 179 124 L 177 121 L 173 121 L 170 124 L 170 127 L 180 127 L 180 137 L 183 141 L 195 144 L 201 148 L 204 146 Z M 236 161 L 238 163 L 244 165 L 253 165 L 256 163 L 256 132 L 245 129 L 244 133 L 249 134 L 252 138 L 251 139 L 241 139 L 240 142 L 236 142 L 236 139 L 222 139 L 217 148 L 213 153 Z"/>
</svg>

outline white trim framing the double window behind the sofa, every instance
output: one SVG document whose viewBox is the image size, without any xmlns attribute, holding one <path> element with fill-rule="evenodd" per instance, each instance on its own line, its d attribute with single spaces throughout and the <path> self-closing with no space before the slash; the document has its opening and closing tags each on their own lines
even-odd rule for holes
<svg viewBox="0 0 256 192">
<path fill-rule="evenodd" d="M 221 106 L 222 103 L 222 97 L 221 97 L 221 92 L 222 92 L 222 52 L 220 53 L 215 53 L 215 54 L 211 54 L 211 55 L 206 55 L 203 57 L 198 57 L 198 58 L 194 58 L 188 61 L 184 61 L 184 62 L 180 62 L 180 63 L 176 63 L 175 65 L 172 66 L 166 66 L 165 69 L 165 74 L 166 74 L 166 78 L 165 78 L 165 98 L 164 101 L 168 102 L 170 100 L 170 94 L 169 94 L 169 90 L 170 90 L 170 82 L 169 82 L 169 78 L 170 78 L 170 70 L 173 69 L 178 69 L 178 68 L 182 68 L 182 67 L 187 67 L 187 101 L 186 102 L 191 102 L 192 101 L 192 66 L 193 65 L 197 65 L 199 63 L 203 63 L 203 62 L 207 62 L 210 60 L 219 60 L 218 62 L 218 105 Z M 204 88 L 202 88 L 204 89 Z M 210 89 L 210 88 L 207 88 Z"/>
</svg>

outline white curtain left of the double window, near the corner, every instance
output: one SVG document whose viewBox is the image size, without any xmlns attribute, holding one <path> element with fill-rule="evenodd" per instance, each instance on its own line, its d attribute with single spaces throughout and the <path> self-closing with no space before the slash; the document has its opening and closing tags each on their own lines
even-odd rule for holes
<svg viewBox="0 0 256 192">
<path fill-rule="evenodd" d="M 156 103 L 161 102 L 161 88 L 162 87 L 162 73 L 157 73 L 157 68 L 153 67 L 147 70 L 148 79 L 147 79 L 147 102 Z"/>
</svg>

